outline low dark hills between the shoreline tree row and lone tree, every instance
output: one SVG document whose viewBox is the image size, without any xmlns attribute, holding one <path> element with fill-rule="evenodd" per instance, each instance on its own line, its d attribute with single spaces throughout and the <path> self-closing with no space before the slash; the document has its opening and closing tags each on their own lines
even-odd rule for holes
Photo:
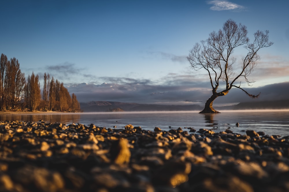
<svg viewBox="0 0 289 192">
<path fill-rule="evenodd" d="M 91 101 L 80 103 L 84 112 L 106 112 L 112 109 L 122 109 L 123 111 L 193 111 L 201 110 L 199 105 L 157 105 L 157 104 L 139 104 L 123 103 L 112 101 Z"/>
</svg>

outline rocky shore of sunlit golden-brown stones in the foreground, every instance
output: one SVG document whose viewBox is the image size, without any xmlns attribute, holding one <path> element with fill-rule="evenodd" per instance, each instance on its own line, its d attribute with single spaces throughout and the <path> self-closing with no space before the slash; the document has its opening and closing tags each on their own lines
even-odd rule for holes
<svg viewBox="0 0 289 192">
<path fill-rule="evenodd" d="M 289 191 L 289 136 L 0 122 L 0 191 Z"/>
</svg>

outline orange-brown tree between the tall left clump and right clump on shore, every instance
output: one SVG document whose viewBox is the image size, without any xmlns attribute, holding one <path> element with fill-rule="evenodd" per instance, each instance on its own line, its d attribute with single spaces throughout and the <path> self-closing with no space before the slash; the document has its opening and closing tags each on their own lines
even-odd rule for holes
<svg viewBox="0 0 289 192">
<path fill-rule="evenodd" d="M 35 111 L 40 104 L 40 83 L 39 83 L 39 76 L 28 75 L 27 83 L 25 84 L 25 98 L 28 105 L 28 108 L 31 111 Z"/>
</svg>

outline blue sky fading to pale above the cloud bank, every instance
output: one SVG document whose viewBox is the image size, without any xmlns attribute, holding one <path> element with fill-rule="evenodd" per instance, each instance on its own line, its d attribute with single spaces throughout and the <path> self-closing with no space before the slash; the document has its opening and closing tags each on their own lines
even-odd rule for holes
<svg viewBox="0 0 289 192">
<path fill-rule="evenodd" d="M 190 101 L 206 100 L 208 75 L 192 71 L 186 57 L 228 19 L 246 25 L 250 39 L 257 30 L 268 30 L 274 42 L 259 52 L 250 76 L 256 82 L 247 87 L 242 81 L 242 86 L 250 90 L 289 81 L 286 1 L 10 0 L 1 7 L 0 54 L 17 58 L 26 77 L 33 71 L 41 81 L 46 72 L 65 86 L 130 83 L 142 85 L 138 94 L 170 92 L 164 103 L 187 101 L 182 94 L 192 94 Z M 235 52 L 240 58 L 242 53 Z"/>
</svg>

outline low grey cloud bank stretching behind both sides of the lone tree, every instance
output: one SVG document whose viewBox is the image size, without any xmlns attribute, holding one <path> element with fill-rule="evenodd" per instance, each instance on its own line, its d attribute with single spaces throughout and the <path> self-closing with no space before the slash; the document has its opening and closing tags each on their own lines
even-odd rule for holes
<svg viewBox="0 0 289 192">
<path fill-rule="evenodd" d="M 103 83 L 101 85 L 81 83 L 68 86 L 70 93 L 75 93 L 79 102 L 118 101 L 143 104 L 204 104 L 211 96 L 207 83 L 183 85 L 150 85 L 141 83 Z M 215 100 L 214 104 L 226 106 L 239 102 L 288 99 L 289 82 L 266 85 L 259 88 L 245 89 L 250 94 L 260 94 L 257 99 L 249 98 L 242 90 L 232 88 L 226 95 Z"/>
</svg>

